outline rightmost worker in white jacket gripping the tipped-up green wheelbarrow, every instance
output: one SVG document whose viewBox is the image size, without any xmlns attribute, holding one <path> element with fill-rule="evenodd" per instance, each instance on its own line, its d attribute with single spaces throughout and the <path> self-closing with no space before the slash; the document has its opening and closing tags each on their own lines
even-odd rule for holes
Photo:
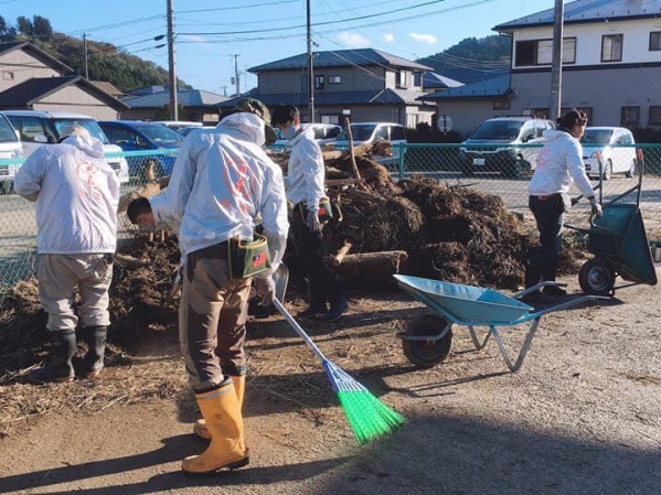
<svg viewBox="0 0 661 495">
<path fill-rule="evenodd" d="M 540 281 L 555 281 L 558 254 L 562 246 L 564 212 L 572 207 L 569 187 L 576 184 L 591 205 L 593 214 L 601 216 L 601 205 L 589 183 L 583 163 L 580 138 L 585 133 L 587 116 L 572 109 L 557 119 L 557 130 L 544 133 L 546 143 L 537 155 L 535 172 L 529 186 L 529 207 L 533 213 L 540 232 L 540 247 L 532 256 L 525 270 L 525 287 Z M 550 286 L 543 293 L 551 297 L 566 295 L 559 287 Z M 525 295 L 526 301 L 540 299 L 541 292 Z"/>
</svg>

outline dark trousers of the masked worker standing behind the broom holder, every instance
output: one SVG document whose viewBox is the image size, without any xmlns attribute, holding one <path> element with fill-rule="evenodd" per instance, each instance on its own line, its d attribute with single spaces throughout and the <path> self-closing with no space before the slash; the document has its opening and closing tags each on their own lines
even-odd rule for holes
<svg viewBox="0 0 661 495">
<path fill-rule="evenodd" d="M 323 241 L 323 233 L 310 232 L 306 225 L 308 208 L 303 203 L 294 207 L 291 229 L 296 243 L 296 251 L 301 268 L 308 278 L 310 306 L 326 309 L 327 301 L 331 308 L 343 301 L 340 277 L 331 270 Z"/>
</svg>

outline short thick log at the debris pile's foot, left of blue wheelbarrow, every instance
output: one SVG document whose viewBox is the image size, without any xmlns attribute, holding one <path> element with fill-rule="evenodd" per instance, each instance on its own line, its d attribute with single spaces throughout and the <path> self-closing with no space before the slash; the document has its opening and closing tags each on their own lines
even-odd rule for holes
<svg viewBox="0 0 661 495">
<path fill-rule="evenodd" d="M 406 251 L 347 255 L 338 267 L 347 289 L 375 290 L 395 284 L 393 275 L 406 270 Z"/>
</svg>

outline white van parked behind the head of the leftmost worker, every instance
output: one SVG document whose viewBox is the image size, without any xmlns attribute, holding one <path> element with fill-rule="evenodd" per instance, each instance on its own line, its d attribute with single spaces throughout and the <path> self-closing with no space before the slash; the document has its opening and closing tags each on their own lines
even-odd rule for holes
<svg viewBox="0 0 661 495">
<path fill-rule="evenodd" d="M 38 110 L 4 110 L 4 115 L 19 132 L 25 157 L 43 144 L 56 144 L 63 138 L 63 132 L 72 126 L 81 126 L 104 143 L 106 153 L 120 153 L 121 148 L 111 144 L 98 122 L 83 114 L 68 111 Z M 107 158 L 108 164 L 115 170 L 121 184 L 129 181 L 128 163 L 124 157 Z"/>
</svg>

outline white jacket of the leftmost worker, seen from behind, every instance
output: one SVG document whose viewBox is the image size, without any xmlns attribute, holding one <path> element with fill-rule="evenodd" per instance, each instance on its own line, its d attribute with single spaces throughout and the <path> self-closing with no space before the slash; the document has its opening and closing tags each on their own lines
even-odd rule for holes
<svg viewBox="0 0 661 495">
<path fill-rule="evenodd" d="M 36 202 L 40 255 L 115 252 L 119 180 L 93 137 L 42 146 L 19 169 L 18 194 Z"/>
</svg>

